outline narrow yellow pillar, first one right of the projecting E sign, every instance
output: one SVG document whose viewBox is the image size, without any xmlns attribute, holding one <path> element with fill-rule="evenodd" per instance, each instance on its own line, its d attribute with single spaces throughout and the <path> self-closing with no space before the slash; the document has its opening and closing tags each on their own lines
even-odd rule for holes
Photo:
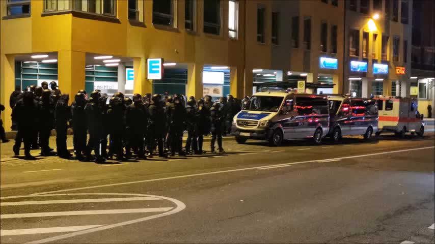
<svg viewBox="0 0 435 244">
<path fill-rule="evenodd" d="M 191 63 L 187 65 L 187 97 L 194 96 L 197 100 L 203 97 L 203 70 L 204 64 Z"/>
</svg>

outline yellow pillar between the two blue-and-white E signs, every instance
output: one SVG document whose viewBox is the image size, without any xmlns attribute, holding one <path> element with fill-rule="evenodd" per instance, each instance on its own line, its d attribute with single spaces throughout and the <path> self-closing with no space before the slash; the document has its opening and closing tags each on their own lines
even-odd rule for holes
<svg viewBox="0 0 435 244">
<path fill-rule="evenodd" d="M 147 79 L 146 66 L 147 60 L 144 57 L 133 58 L 134 93 L 139 93 L 141 95 L 152 93 L 152 80 Z"/>
</svg>

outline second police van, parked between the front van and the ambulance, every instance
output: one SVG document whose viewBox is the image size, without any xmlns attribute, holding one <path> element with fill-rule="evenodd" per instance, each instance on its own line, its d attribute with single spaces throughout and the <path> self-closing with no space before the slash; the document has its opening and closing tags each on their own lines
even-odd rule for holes
<svg viewBox="0 0 435 244">
<path fill-rule="evenodd" d="M 330 133 L 335 142 L 342 136 L 363 135 L 370 139 L 378 131 L 378 109 L 376 100 L 329 96 Z"/>
</svg>

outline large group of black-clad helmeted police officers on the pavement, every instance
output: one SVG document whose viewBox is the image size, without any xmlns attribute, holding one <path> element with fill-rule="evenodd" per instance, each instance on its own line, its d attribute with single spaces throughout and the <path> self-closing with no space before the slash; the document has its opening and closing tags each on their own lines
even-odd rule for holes
<svg viewBox="0 0 435 244">
<path fill-rule="evenodd" d="M 133 155 L 145 159 L 152 157 L 153 151 L 165 158 L 201 155 L 205 153 L 203 136 L 210 133 L 211 153 L 216 153 L 216 140 L 217 151 L 224 153 L 222 136 L 230 133 L 232 119 L 241 109 L 240 101 L 232 95 L 213 102 L 210 96 L 196 100 L 183 95 L 134 94 L 130 99 L 117 92 L 107 104 L 108 96 L 100 90 L 94 90 L 89 98 L 85 90 L 79 90 L 69 105 L 69 95 L 62 95 L 56 82 L 50 83 L 51 89 L 47 82 L 41 86 L 31 85 L 23 93 L 17 87 L 11 95 L 16 156 L 21 142 L 26 158 L 33 159 L 30 149 L 38 147 L 42 156 L 50 156 L 53 149 L 49 136 L 55 128 L 58 156 L 71 158 L 66 145 L 69 127 L 73 130 L 75 158 L 80 161 L 101 163 L 115 157 L 123 161 Z"/>
</svg>

